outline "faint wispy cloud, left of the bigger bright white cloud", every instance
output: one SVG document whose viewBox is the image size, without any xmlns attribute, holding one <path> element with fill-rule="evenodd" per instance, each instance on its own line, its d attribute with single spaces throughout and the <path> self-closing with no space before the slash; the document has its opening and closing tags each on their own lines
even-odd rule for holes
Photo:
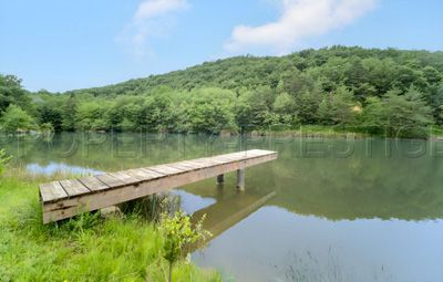
<svg viewBox="0 0 443 282">
<path fill-rule="evenodd" d="M 144 0 L 117 41 L 137 58 L 153 54 L 150 40 L 167 36 L 176 21 L 174 14 L 188 7 L 187 0 Z"/>
</svg>

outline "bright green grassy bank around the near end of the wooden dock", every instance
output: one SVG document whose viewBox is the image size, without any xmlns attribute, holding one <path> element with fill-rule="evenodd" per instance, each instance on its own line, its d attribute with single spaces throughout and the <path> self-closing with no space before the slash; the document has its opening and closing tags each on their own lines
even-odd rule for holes
<svg viewBox="0 0 443 282">
<path fill-rule="evenodd" d="M 39 176 L 0 179 L 0 281 L 165 281 L 163 238 L 141 218 L 85 213 L 42 224 Z M 220 281 L 219 274 L 181 262 L 174 281 Z"/>
</svg>

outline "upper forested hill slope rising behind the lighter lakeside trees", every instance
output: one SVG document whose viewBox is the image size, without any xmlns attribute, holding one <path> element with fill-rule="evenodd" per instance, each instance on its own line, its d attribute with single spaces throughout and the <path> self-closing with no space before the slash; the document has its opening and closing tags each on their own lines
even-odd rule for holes
<svg viewBox="0 0 443 282">
<path fill-rule="evenodd" d="M 419 76 L 432 75 L 414 73 L 433 72 L 430 67 L 425 69 L 426 66 L 443 73 L 443 52 L 332 46 L 303 50 L 285 56 L 229 58 L 182 71 L 68 93 L 137 95 L 159 85 L 187 91 L 203 86 L 250 90 L 259 86 L 277 87 L 279 82 L 293 79 L 297 74 L 315 80 L 322 79 L 323 83 L 346 83 L 351 87 L 369 83 L 385 91 L 391 85 L 411 84 L 414 80 L 420 80 Z M 383 77 L 384 75 L 388 76 Z"/>
</svg>

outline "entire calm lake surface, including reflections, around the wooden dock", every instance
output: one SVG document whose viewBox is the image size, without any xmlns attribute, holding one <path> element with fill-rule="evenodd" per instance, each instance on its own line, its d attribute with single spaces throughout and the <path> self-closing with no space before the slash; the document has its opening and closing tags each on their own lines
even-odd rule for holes
<svg viewBox="0 0 443 282">
<path fill-rule="evenodd" d="M 246 170 L 244 194 L 234 174 L 177 189 L 215 234 L 197 264 L 236 281 L 443 281 L 443 142 L 63 134 L 0 145 L 43 174 L 278 150 Z"/>
</svg>

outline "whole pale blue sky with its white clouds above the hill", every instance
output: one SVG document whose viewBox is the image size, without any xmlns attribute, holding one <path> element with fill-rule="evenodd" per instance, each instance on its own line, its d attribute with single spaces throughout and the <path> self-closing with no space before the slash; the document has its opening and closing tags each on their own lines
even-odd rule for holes
<svg viewBox="0 0 443 282">
<path fill-rule="evenodd" d="M 443 50 L 442 0 L 0 0 L 0 73 L 37 91 L 333 44 Z"/>
</svg>

